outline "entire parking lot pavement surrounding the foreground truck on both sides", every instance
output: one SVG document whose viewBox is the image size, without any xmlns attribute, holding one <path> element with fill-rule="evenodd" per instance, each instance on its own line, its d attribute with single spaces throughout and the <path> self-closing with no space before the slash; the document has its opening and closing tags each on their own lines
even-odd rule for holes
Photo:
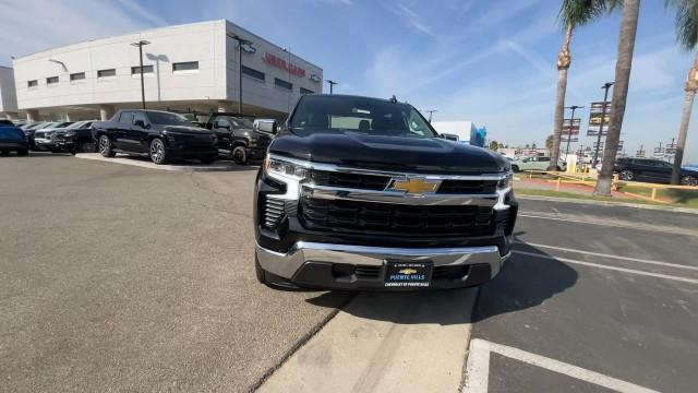
<svg viewBox="0 0 698 393">
<path fill-rule="evenodd" d="M 0 391 L 409 391 L 460 369 L 472 392 L 698 383 L 694 214 L 521 200 L 477 301 L 284 291 L 254 278 L 255 172 L 0 157 Z"/>
</svg>

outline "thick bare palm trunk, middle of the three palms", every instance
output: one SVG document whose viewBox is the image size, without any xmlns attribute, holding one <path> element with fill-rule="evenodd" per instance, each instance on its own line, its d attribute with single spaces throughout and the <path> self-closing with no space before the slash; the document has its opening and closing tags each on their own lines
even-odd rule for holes
<svg viewBox="0 0 698 393">
<path fill-rule="evenodd" d="M 613 103 L 611 104 L 611 123 L 609 124 L 609 134 L 606 135 L 601 172 L 597 180 L 594 195 L 611 196 L 611 177 L 613 176 L 613 166 L 618 152 L 625 102 L 630 82 L 630 69 L 633 68 L 633 51 L 635 50 L 635 34 L 637 33 L 637 21 L 640 13 L 640 0 L 625 0 L 623 4 L 618 52 L 615 63 L 615 86 L 613 88 Z"/>
</svg>

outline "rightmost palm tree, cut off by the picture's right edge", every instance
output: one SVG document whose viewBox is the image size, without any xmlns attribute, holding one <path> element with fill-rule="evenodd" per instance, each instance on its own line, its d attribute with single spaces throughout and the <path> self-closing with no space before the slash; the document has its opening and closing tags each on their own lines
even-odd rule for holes
<svg viewBox="0 0 698 393">
<path fill-rule="evenodd" d="M 676 40 L 685 50 L 694 50 L 698 44 L 698 1 L 696 0 L 666 0 L 666 7 L 676 9 Z M 684 98 L 684 110 L 678 127 L 678 141 L 676 142 L 676 155 L 674 156 L 674 169 L 672 170 L 672 184 L 681 181 L 681 166 L 684 160 L 684 150 L 686 147 L 686 135 L 688 134 L 688 122 L 690 111 L 694 107 L 694 97 L 698 91 L 698 53 L 694 60 L 693 68 L 688 71 L 686 80 L 686 97 Z"/>
</svg>

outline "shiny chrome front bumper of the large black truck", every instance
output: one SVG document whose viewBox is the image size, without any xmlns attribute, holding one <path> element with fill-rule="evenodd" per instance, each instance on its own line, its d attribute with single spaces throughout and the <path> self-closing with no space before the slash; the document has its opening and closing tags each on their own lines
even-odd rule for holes
<svg viewBox="0 0 698 393">
<path fill-rule="evenodd" d="M 256 254 L 262 269 L 289 279 L 305 262 L 382 266 L 386 260 L 429 260 L 434 266 L 489 264 L 494 277 L 509 257 L 502 257 L 496 246 L 408 249 L 305 241 L 297 242 L 287 253 L 270 251 L 256 245 Z"/>
</svg>

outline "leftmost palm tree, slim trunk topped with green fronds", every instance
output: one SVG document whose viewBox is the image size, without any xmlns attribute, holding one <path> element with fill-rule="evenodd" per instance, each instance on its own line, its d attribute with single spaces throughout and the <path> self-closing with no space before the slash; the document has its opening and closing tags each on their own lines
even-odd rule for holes
<svg viewBox="0 0 698 393">
<path fill-rule="evenodd" d="M 604 12 L 613 9 L 621 0 L 563 0 L 557 19 L 565 27 L 565 40 L 557 55 L 557 94 L 555 96 L 555 115 L 553 118 L 553 145 L 550 153 L 550 167 L 557 169 L 559 159 L 559 140 L 563 132 L 565 116 L 565 93 L 567 91 L 567 71 L 571 63 L 569 40 L 575 28 L 582 26 Z"/>
</svg>

